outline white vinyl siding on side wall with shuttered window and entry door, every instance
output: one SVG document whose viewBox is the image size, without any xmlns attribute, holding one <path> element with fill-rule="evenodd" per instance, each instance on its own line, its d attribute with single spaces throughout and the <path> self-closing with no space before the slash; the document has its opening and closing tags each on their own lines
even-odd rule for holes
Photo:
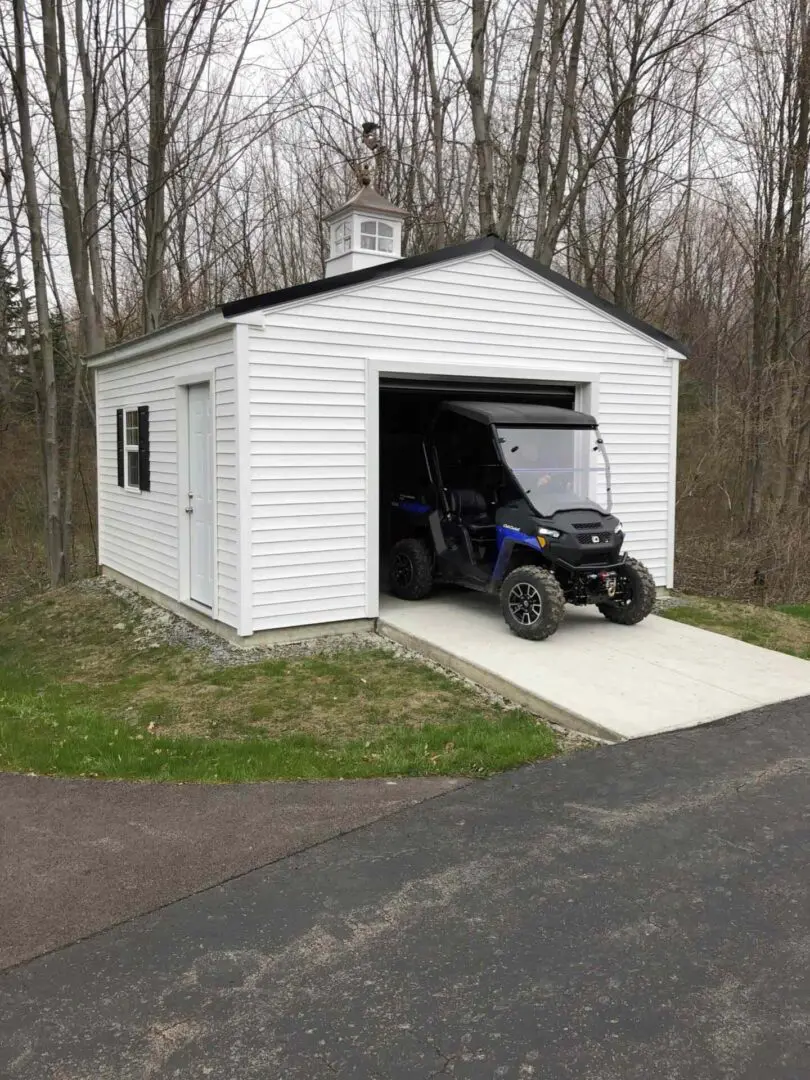
<svg viewBox="0 0 810 1080">
<path fill-rule="evenodd" d="M 240 598 L 232 326 L 96 370 L 98 561 L 165 596 L 180 597 L 177 383 L 201 370 L 214 374 L 217 610 L 221 622 L 235 626 Z M 118 486 L 116 410 L 133 402 L 149 406 L 150 491 Z"/>
</svg>

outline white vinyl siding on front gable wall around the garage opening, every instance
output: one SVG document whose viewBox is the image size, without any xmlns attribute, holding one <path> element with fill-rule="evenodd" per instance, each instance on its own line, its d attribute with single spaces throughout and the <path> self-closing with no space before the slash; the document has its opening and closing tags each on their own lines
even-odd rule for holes
<svg viewBox="0 0 810 1080">
<path fill-rule="evenodd" d="M 366 367 L 392 357 L 597 379 L 615 511 L 665 583 L 673 362 L 511 260 L 485 253 L 269 309 L 249 357 L 254 630 L 374 613 Z"/>
</svg>

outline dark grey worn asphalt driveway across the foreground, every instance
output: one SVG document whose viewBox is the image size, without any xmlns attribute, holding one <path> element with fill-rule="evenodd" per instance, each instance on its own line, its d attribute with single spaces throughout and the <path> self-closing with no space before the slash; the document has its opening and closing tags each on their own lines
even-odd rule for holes
<svg viewBox="0 0 810 1080">
<path fill-rule="evenodd" d="M 783 1080 L 810 700 L 473 784 L 0 977 L 0 1075 Z"/>
</svg>

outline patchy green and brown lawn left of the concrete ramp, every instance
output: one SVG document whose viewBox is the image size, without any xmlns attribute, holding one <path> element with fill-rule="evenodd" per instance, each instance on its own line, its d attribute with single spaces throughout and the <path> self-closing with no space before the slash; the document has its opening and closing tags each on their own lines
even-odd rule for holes
<svg viewBox="0 0 810 1080">
<path fill-rule="evenodd" d="M 153 608 L 96 582 L 0 612 L 0 770 L 220 782 L 482 775 L 558 748 L 529 713 L 381 647 L 222 666 L 204 635 L 189 647 L 154 625 Z"/>
</svg>

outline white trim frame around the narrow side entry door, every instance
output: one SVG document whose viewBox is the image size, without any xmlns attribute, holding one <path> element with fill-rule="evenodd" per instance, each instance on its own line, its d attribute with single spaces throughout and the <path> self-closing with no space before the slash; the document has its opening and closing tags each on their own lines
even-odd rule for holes
<svg viewBox="0 0 810 1080">
<path fill-rule="evenodd" d="M 188 526 L 188 514 L 186 513 L 186 507 L 188 505 L 188 489 L 189 489 L 189 454 L 188 454 L 188 436 L 189 436 L 189 422 L 188 422 L 188 388 L 198 386 L 201 382 L 208 383 L 208 393 L 211 394 L 211 424 L 212 424 L 212 462 L 211 462 L 211 475 L 213 482 L 213 498 L 214 498 L 214 565 L 212 568 L 213 572 L 213 585 L 214 585 L 214 603 L 212 607 L 206 607 L 204 604 L 198 604 L 197 600 L 191 598 L 190 594 L 190 572 L 191 572 L 191 553 L 189 543 L 189 526 Z M 217 536 L 217 519 L 219 517 L 218 513 L 218 500 L 217 500 L 217 482 L 216 482 L 216 431 L 217 431 L 217 418 L 216 418 L 216 392 L 215 392 L 215 372 L 211 368 L 194 368 L 190 372 L 184 372 L 183 376 L 175 379 L 175 407 L 177 416 L 177 599 L 181 604 L 187 604 L 189 607 L 193 608 L 195 611 L 201 611 L 203 615 L 207 615 L 212 619 L 219 618 L 219 588 L 218 588 L 218 576 L 217 576 L 217 563 L 218 563 L 218 552 L 219 552 L 219 540 Z"/>
</svg>

